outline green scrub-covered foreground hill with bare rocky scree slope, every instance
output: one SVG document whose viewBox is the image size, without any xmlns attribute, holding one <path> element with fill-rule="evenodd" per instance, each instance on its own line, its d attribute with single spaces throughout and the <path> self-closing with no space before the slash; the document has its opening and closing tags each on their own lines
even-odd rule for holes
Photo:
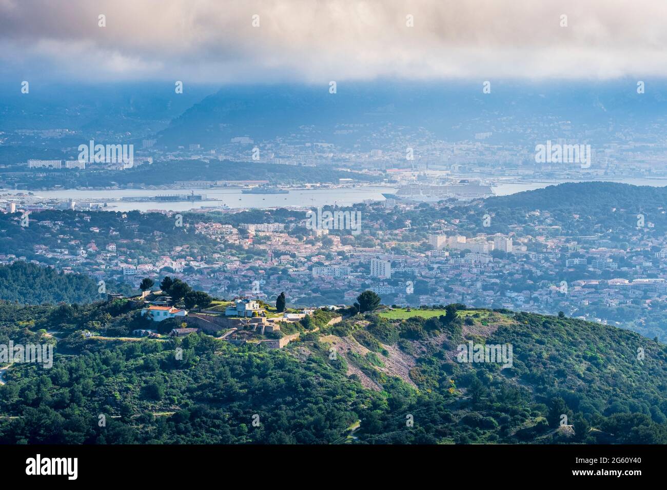
<svg viewBox="0 0 667 490">
<path fill-rule="evenodd" d="M 275 350 L 81 335 L 136 321 L 122 303 L 1 305 L 3 335 L 57 345 L 5 373 L 0 442 L 667 443 L 665 347 L 630 331 L 450 305 L 299 323 Z M 512 366 L 460 362 L 470 341 Z"/>
</svg>

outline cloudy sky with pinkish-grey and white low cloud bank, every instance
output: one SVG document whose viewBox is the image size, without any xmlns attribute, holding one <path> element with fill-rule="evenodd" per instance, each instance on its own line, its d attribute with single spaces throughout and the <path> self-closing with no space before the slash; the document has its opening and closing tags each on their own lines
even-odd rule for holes
<svg viewBox="0 0 667 490">
<path fill-rule="evenodd" d="M 667 75 L 666 27 L 667 0 L 0 0 L 0 75 L 639 80 Z"/>
</svg>

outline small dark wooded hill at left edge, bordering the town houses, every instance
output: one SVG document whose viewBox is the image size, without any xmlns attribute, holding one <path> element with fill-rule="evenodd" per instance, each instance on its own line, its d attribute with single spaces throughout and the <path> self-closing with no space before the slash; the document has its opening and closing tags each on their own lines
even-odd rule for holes
<svg viewBox="0 0 667 490">
<path fill-rule="evenodd" d="M 51 267 L 15 262 L 0 265 L 0 299 L 28 305 L 90 303 L 104 296 L 87 275 L 65 274 Z"/>
</svg>

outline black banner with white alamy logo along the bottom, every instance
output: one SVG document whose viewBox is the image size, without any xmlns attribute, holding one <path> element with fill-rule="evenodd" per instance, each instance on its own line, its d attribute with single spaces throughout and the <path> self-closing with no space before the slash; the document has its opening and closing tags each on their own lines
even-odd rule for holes
<svg viewBox="0 0 667 490">
<path fill-rule="evenodd" d="M 539 478 L 540 481 L 609 481 L 632 485 L 657 477 L 662 446 L 644 445 L 434 445 L 434 446 L 204 446 L 97 445 L 0 446 L 3 475 L 62 483 L 193 482 L 209 475 L 253 483 L 294 474 L 350 476 L 368 481 L 406 477 L 465 477 L 489 483 Z M 398 473 L 398 474 L 397 474 Z M 230 480 L 231 483 L 231 480 Z"/>
</svg>

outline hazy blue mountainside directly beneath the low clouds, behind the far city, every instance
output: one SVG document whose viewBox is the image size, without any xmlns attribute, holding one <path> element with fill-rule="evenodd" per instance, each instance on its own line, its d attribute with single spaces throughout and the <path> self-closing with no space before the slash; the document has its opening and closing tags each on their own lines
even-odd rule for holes
<svg viewBox="0 0 667 490">
<path fill-rule="evenodd" d="M 404 135 L 424 128 L 435 137 L 456 141 L 474 138 L 484 121 L 484 127 L 499 128 L 488 141 L 534 146 L 554 137 L 554 128 L 535 125 L 526 133 L 513 128 L 514 123 L 567 120 L 572 121 L 573 134 L 583 137 L 584 131 L 588 135 L 595 131 L 595 137 L 604 139 L 613 117 L 617 125 L 632 123 L 637 131 L 644 128 L 648 133 L 653 121 L 664 114 L 666 100 L 659 91 L 637 96 L 615 83 L 498 81 L 491 97 L 482 95 L 481 81 L 478 86 L 339 81 L 336 93 L 329 93 L 329 80 L 317 85 L 227 85 L 173 119 L 157 133 L 157 139 L 158 146 L 175 148 L 188 143 L 210 147 L 243 135 L 256 142 L 302 137 L 304 142 L 325 141 L 370 151 L 382 146 L 377 132 L 388 125 Z M 576 119 L 571 117 L 573 111 Z"/>
</svg>

